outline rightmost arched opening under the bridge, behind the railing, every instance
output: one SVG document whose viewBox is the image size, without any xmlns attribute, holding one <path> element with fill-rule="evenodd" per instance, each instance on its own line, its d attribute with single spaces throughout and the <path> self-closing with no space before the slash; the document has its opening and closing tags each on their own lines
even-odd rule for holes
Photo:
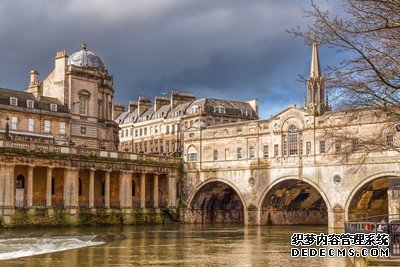
<svg viewBox="0 0 400 267">
<path fill-rule="evenodd" d="M 349 221 L 387 220 L 388 215 L 388 177 L 373 179 L 350 197 L 347 208 Z"/>
</svg>

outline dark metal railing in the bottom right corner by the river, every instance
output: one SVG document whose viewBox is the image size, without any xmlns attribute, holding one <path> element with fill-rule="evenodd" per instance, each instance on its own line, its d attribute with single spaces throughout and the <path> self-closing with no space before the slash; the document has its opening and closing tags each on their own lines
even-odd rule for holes
<svg viewBox="0 0 400 267">
<path fill-rule="evenodd" d="M 400 220 L 387 222 L 346 222 L 345 232 L 357 233 L 386 233 L 389 235 L 390 256 L 400 256 Z"/>
</svg>

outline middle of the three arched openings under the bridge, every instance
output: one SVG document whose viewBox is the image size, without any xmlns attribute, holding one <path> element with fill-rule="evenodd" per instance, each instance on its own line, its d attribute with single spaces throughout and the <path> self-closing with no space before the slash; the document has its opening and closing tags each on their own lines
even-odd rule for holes
<svg viewBox="0 0 400 267">
<path fill-rule="evenodd" d="M 327 225 L 324 198 L 311 184 L 288 179 L 272 186 L 261 206 L 263 225 Z"/>
</svg>

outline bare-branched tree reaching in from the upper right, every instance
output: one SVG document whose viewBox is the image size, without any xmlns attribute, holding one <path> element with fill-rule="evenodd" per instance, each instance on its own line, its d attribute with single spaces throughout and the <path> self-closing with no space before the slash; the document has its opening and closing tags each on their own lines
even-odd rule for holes
<svg viewBox="0 0 400 267">
<path fill-rule="evenodd" d="M 335 109 L 343 115 L 341 123 L 331 125 L 326 135 L 350 144 L 344 151 L 399 149 L 390 138 L 400 124 L 400 1 L 340 0 L 339 15 L 332 15 L 312 0 L 306 17 L 313 23 L 306 30 L 290 30 L 307 43 L 317 38 L 320 44 L 336 48 L 345 56 L 327 69 L 325 85 Z M 351 114 L 350 114 L 351 113 Z M 346 132 L 358 114 L 382 127 L 370 135 Z M 337 113 L 339 114 L 339 113 Z M 367 116 L 367 117 L 366 117 Z"/>
</svg>

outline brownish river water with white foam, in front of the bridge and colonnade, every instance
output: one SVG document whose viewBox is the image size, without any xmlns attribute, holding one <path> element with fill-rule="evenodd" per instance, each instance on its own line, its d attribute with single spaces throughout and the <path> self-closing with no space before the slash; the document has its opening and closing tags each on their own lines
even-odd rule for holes
<svg viewBox="0 0 400 267">
<path fill-rule="evenodd" d="M 292 258 L 293 232 L 325 227 L 149 225 L 2 230 L 0 266 L 348 266 Z"/>
</svg>

